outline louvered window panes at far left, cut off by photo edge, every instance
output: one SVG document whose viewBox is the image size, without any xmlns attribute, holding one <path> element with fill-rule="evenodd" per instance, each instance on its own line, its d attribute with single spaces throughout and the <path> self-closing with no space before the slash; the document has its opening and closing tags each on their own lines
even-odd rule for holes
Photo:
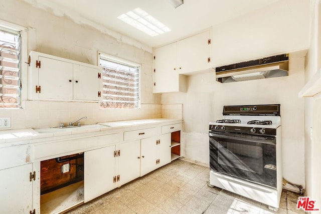
<svg viewBox="0 0 321 214">
<path fill-rule="evenodd" d="M 20 107 L 20 32 L 0 26 L 0 108 Z"/>
</svg>

